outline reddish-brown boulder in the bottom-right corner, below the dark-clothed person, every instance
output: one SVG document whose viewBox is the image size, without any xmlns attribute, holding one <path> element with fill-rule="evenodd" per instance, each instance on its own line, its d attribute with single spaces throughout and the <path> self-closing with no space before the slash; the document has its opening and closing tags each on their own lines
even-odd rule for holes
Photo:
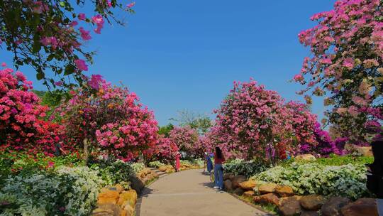
<svg viewBox="0 0 383 216">
<path fill-rule="evenodd" d="M 340 209 L 347 216 L 378 216 L 377 203 L 373 198 L 360 198 Z"/>
</svg>

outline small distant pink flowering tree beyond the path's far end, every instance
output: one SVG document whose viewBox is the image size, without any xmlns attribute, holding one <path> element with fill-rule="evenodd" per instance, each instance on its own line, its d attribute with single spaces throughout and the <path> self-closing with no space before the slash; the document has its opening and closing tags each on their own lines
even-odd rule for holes
<svg viewBox="0 0 383 216">
<path fill-rule="evenodd" d="M 185 156 L 196 156 L 199 154 L 197 148 L 198 132 L 191 129 L 190 126 L 174 126 L 170 131 L 169 138 L 177 144 L 179 151 L 184 153 Z"/>
</svg>

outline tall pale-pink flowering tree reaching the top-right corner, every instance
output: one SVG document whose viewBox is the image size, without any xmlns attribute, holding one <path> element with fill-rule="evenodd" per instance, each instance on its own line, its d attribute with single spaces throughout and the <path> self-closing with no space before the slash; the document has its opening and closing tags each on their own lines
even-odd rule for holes
<svg viewBox="0 0 383 216">
<path fill-rule="evenodd" d="M 338 0 L 333 10 L 311 17 L 317 26 L 299 33 L 313 54 L 294 77 L 307 86 L 299 94 L 330 94 L 326 115 L 353 141 L 382 132 L 382 2 Z"/>
</svg>

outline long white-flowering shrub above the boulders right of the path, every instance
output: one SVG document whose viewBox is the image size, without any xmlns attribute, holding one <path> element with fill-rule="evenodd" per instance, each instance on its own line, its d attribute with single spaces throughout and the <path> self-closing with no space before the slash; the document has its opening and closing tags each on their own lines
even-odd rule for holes
<svg viewBox="0 0 383 216">
<path fill-rule="evenodd" d="M 351 199 L 368 195 L 366 170 L 362 164 L 324 166 L 319 163 L 292 163 L 276 166 L 254 175 L 252 179 L 289 185 L 298 195 L 317 194 Z"/>
</svg>

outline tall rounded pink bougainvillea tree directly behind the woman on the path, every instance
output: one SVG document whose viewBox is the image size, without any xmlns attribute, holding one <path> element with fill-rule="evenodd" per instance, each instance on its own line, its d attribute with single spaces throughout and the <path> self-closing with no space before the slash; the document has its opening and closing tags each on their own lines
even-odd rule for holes
<svg viewBox="0 0 383 216">
<path fill-rule="evenodd" d="M 287 110 L 277 92 L 265 90 L 254 80 L 234 82 L 215 112 L 218 133 L 232 151 L 245 152 L 246 158 L 284 157 L 287 149 L 279 142 L 284 135 L 281 132 L 291 126 L 284 121 Z"/>
</svg>

